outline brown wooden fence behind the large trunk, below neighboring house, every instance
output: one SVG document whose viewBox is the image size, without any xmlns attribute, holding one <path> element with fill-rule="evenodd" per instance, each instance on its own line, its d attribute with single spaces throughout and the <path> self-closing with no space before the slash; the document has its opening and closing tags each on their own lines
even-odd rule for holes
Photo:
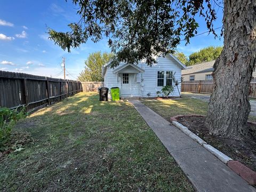
<svg viewBox="0 0 256 192">
<path fill-rule="evenodd" d="M 250 98 L 256 98 L 256 78 L 252 79 L 251 83 L 252 93 L 249 95 Z M 192 93 L 212 93 L 213 80 L 197 80 L 197 81 L 183 81 L 181 83 L 182 92 Z"/>
</svg>

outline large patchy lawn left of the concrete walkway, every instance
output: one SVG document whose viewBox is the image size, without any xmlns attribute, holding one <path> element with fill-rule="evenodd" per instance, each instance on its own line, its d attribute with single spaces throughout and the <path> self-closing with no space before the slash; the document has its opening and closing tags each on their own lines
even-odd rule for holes
<svg viewBox="0 0 256 192">
<path fill-rule="evenodd" d="M 78 93 L 15 131 L 30 132 L 34 143 L 0 160 L 1 191 L 194 190 L 128 102 Z"/>
</svg>

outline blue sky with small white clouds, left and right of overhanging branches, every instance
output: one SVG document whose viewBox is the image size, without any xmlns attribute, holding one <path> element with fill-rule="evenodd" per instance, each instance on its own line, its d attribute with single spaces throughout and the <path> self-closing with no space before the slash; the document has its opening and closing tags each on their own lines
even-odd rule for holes
<svg viewBox="0 0 256 192">
<path fill-rule="evenodd" d="M 66 58 L 69 76 L 75 79 L 84 68 L 89 53 L 95 51 L 110 52 L 107 40 L 98 43 L 88 41 L 71 53 L 63 51 L 47 39 L 47 27 L 59 31 L 68 30 L 68 23 L 77 22 L 76 9 L 71 0 L 59 1 L 1 1 L 0 3 L 0 70 L 22 72 L 41 76 L 63 78 L 60 66 L 62 57 Z M 218 11 L 215 27 L 221 27 L 222 10 Z M 206 30 L 203 18 L 198 18 L 198 34 Z M 47 26 L 47 27 L 46 27 Z M 217 30 L 220 34 L 220 29 Z M 178 51 L 189 55 L 209 45 L 222 45 L 223 39 L 214 39 L 213 35 L 199 35 L 177 47 Z"/>
</svg>

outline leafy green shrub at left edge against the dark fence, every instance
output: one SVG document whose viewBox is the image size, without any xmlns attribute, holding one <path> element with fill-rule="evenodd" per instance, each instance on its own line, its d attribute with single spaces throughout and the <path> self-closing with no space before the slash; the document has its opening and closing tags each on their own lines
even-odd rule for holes
<svg viewBox="0 0 256 192">
<path fill-rule="evenodd" d="M 27 113 L 23 107 L 20 111 L 17 109 L 0 108 L 0 151 L 4 150 L 4 144 L 10 139 L 12 128 L 21 119 L 25 118 Z"/>
</svg>

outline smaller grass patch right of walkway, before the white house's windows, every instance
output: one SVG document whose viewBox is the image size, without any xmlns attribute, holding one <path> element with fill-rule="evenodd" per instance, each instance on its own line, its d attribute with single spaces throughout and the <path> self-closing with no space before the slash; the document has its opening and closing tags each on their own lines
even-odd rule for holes
<svg viewBox="0 0 256 192">
<path fill-rule="evenodd" d="M 157 114 L 164 117 L 167 121 L 170 120 L 170 117 L 175 115 L 206 115 L 208 108 L 208 102 L 194 98 L 161 100 L 146 99 L 141 102 L 154 110 Z M 256 122 L 256 117 L 250 115 L 248 121 Z"/>
</svg>

